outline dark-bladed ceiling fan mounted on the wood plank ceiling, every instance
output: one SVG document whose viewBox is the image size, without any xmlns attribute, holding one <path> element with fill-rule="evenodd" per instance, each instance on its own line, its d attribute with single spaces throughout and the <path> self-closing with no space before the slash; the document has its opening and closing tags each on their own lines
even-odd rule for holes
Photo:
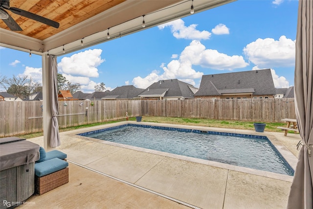
<svg viewBox="0 0 313 209">
<path fill-rule="evenodd" d="M 58 28 L 60 25 L 59 23 L 55 21 L 49 20 L 42 16 L 36 15 L 34 13 L 27 12 L 25 10 L 22 10 L 16 7 L 10 7 L 10 0 L 0 0 L 0 19 L 2 19 L 3 22 L 13 31 L 22 31 L 22 28 L 18 25 L 18 23 L 15 22 L 15 20 L 5 10 L 9 10 L 15 14 L 24 16 L 26 18 L 30 18 L 32 20 L 35 20 L 41 23 L 45 23 L 55 28 Z"/>
</svg>

